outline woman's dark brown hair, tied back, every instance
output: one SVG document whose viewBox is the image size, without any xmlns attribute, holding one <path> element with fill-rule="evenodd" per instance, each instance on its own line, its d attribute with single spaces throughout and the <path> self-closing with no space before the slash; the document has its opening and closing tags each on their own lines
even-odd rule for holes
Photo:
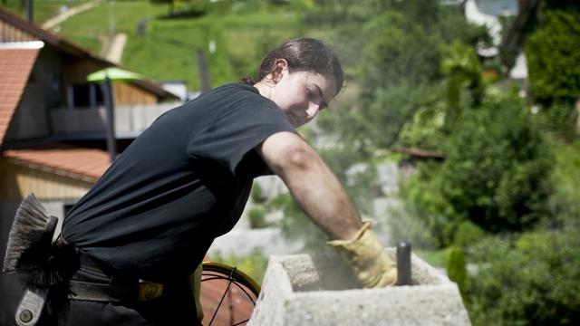
<svg viewBox="0 0 580 326">
<path fill-rule="evenodd" d="M 343 88 L 343 67 L 333 49 L 314 38 L 298 38 L 281 44 L 266 55 L 260 65 L 257 81 L 274 71 L 276 59 L 285 59 L 290 72 L 320 73 L 336 85 L 338 93 Z M 242 80 L 255 84 L 252 78 Z"/>
</svg>

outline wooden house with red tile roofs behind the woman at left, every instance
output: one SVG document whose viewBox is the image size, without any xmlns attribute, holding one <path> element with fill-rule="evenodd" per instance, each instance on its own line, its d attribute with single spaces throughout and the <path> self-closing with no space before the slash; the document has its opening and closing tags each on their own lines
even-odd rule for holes
<svg viewBox="0 0 580 326">
<path fill-rule="evenodd" d="M 112 62 L 0 9 L 0 252 L 14 214 L 31 192 L 63 217 L 110 165 L 100 85 L 87 75 Z M 149 80 L 113 83 L 118 149 L 126 148 L 179 97 Z M 0 324 L 21 297 L 0 275 Z"/>
</svg>

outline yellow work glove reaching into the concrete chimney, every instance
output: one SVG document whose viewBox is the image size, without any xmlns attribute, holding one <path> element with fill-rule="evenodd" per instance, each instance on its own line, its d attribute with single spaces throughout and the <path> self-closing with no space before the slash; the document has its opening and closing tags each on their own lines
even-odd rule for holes
<svg viewBox="0 0 580 326">
<path fill-rule="evenodd" d="M 362 287 L 374 288 L 397 283 L 396 264 L 385 254 L 372 232 L 371 222 L 364 222 L 352 239 L 333 240 L 328 245 L 343 257 Z"/>
</svg>

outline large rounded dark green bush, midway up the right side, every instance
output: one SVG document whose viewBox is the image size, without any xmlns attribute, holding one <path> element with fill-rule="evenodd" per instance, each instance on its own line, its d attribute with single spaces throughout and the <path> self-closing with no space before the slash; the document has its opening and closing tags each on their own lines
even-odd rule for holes
<svg viewBox="0 0 580 326">
<path fill-rule="evenodd" d="M 547 211 L 551 158 L 535 121 L 514 95 L 488 96 L 455 130 L 440 193 L 492 232 L 522 230 Z"/>
</svg>

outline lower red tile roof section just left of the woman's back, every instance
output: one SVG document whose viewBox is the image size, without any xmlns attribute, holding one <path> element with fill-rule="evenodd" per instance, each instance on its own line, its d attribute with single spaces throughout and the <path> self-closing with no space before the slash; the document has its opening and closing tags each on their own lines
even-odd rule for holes
<svg viewBox="0 0 580 326">
<path fill-rule="evenodd" d="M 102 149 L 83 149 L 51 145 L 36 149 L 9 149 L 3 156 L 31 168 L 56 174 L 95 181 L 109 168 L 109 154 Z"/>
</svg>

